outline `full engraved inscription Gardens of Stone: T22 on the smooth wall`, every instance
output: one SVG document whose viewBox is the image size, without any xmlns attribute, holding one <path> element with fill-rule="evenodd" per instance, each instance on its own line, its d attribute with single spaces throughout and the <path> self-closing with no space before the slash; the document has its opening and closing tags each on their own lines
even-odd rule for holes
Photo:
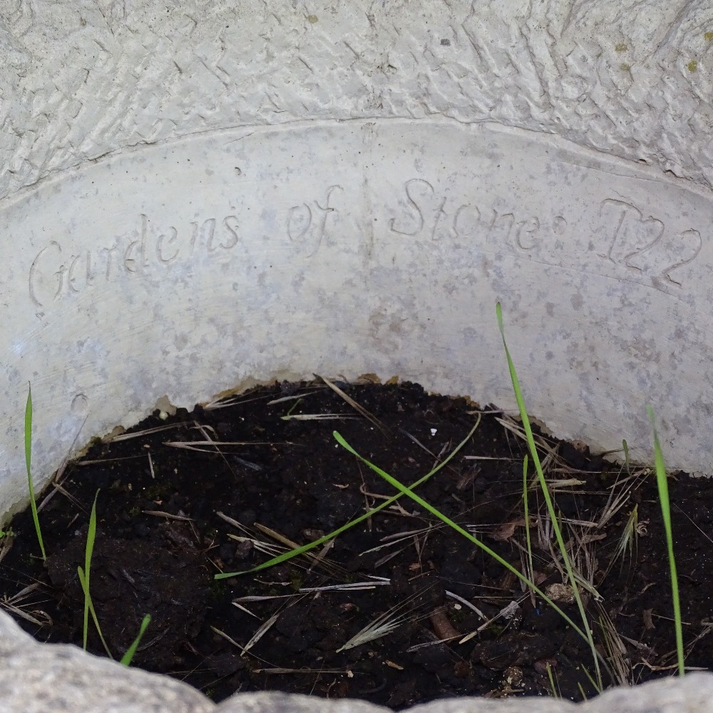
<svg viewBox="0 0 713 713">
<path fill-rule="evenodd" d="M 359 205 L 359 195 L 354 195 L 358 190 L 352 189 L 350 195 L 343 185 L 325 183 L 311 197 L 302 196 L 307 200 L 297 205 L 283 201 L 282 215 L 268 210 L 265 215 L 275 215 L 277 220 L 270 220 L 270 230 L 265 230 L 269 235 L 262 237 L 277 241 L 280 257 L 275 253 L 276 259 L 286 264 L 297 257 L 312 260 L 324 249 L 325 236 L 337 232 L 339 240 L 349 240 L 342 228 L 334 229 L 344 217 L 354 217 L 347 214 L 359 210 L 354 207 Z M 365 182 L 361 190 L 370 193 L 373 188 Z M 366 196 L 366 205 L 374 205 L 371 198 Z M 593 200 L 580 206 L 579 214 L 571 206 L 541 203 L 541 210 L 533 212 L 533 201 L 530 207 L 527 201 L 513 200 L 508 205 L 502 194 L 481 200 L 477 184 L 446 184 L 437 190 L 429 180 L 409 178 L 402 184 L 401 195 L 387 197 L 377 211 L 385 211 L 386 220 L 381 220 L 384 215 L 366 216 L 366 220 L 373 218 L 379 226 L 375 228 L 375 245 L 380 245 L 382 252 L 393 251 L 391 259 L 396 261 L 400 252 L 418 242 L 459 268 L 476 267 L 482 255 L 511 255 L 637 282 L 674 296 L 680 296 L 685 286 L 684 267 L 702 251 L 703 237 L 694 227 L 680 230 L 678 223 L 676 229 L 670 229 L 662 218 L 647 215 L 621 198 Z M 267 204 L 269 207 L 269 199 Z M 247 238 L 254 242 L 261 235 L 255 231 L 267 227 L 252 224 L 246 228 L 245 217 L 230 213 L 162 226 L 140 213 L 138 227 L 115 237 L 111 245 L 77 251 L 63 245 L 61 239 L 51 240 L 31 263 L 29 296 L 41 309 L 98 282 L 111 282 L 118 275 L 130 277 L 175 264 L 190 265 L 199 255 L 210 260 L 228 254 Z M 329 238 L 327 249 L 335 246 Z M 379 247 L 374 258 L 379 261 Z"/>
</svg>

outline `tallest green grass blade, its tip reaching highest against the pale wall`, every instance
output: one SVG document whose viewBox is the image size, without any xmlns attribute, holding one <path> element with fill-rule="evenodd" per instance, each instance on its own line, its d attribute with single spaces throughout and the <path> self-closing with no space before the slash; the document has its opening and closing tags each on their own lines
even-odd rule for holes
<svg viewBox="0 0 713 713">
<path fill-rule="evenodd" d="M 580 611 L 580 617 L 582 617 L 582 622 L 587 632 L 587 640 L 592 650 L 592 656 L 594 660 L 594 665 L 597 675 L 598 690 L 603 687 L 602 675 L 599 667 L 600 655 L 594 644 L 594 638 L 592 635 L 592 630 L 588 622 L 587 612 L 585 611 L 584 604 L 582 602 L 582 597 L 580 595 L 579 586 L 577 583 L 577 578 L 575 578 L 574 568 L 570 561 L 569 555 L 567 553 L 567 548 L 565 547 L 565 540 L 562 536 L 562 529 L 560 528 L 560 523 L 557 518 L 557 513 L 555 512 L 555 506 L 550 496 L 550 489 L 547 486 L 547 481 L 545 481 L 545 474 L 542 470 L 542 464 L 540 463 L 540 455 L 537 451 L 537 446 L 535 446 L 535 438 L 533 436 L 532 427 L 530 426 L 530 419 L 528 418 L 527 409 L 525 409 L 525 399 L 523 399 L 523 392 L 520 389 L 520 381 L 518 380 L 517 371 L 515 371 L 515 363 L 508 349 L 508 343 L 505 339 L 505 328 L 503 327 L 503 309 L 500 302 L 496 304 L 496 316 L 498 318 L 498 327 L 500 328 L 501 337 L 503 337 L 503 347 L 505 348 L 505 355 L 508 360 L 508 369 L 510 371 L 511 381 L 513 382 L 513 391 L 515 391 L 515 400 L 518 402 L 518 410 L 520 411 L 520 420 L 523 422 L 523 429 L 525 430 L 525 436 L 528 441 L 528 448 L 530 450 L 530 456 L 533 459 L 533 465 L 535 466 L 535 471 L 537 471 L 538 479 L 540 481 L 540 488 L 542 489 L 543 497 L 545 498 L 545 504 L 547 505 L 548 513 L 550 514 L 550 520 L 553 525 L 553 530 L 555 532 L 555 538 L 557 539 L 557 545 L 560 550 L 560 555 L 562 556 L 563 563 L 565 565 L 565 570 L 567 570 L 567 576 L 570 580 L 570 586 L 575 595 L 575 600 L 577 601 L 577 607 Z"/>
</svg>

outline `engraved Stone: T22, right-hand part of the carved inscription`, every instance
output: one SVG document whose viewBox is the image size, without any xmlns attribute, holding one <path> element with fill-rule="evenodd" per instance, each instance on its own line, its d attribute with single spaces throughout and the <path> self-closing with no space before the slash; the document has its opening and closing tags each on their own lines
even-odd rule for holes
<svg viewBox="0 0 713 713">
<path fill-rule="evenodd" d="M 453 188 L 451 186 L 448 187 Z M 458 265 L 473 265 L 481 253 L 510 253 L 555 267 L 640 282 L 667 294 L 684 287 L 682 269 L 703 247 L 693 227 L 670 230 L 632 202 L 605 198 L 590 207 L 586 231 L 573 228 L 563 208 L 533 214 L 523 207 L 488 207 L 453 198 L 422 178 L 406 180 L 401 210 L 389 217 L 393 235 L 423 240 L 444 251 L 462 251 Z M 477 194 L 477 192 L 476 192 Z M 554 214 L 554 215 L 553 215 Z M 593 259 L 594 258 L 594 259 Z"/>
</svg>

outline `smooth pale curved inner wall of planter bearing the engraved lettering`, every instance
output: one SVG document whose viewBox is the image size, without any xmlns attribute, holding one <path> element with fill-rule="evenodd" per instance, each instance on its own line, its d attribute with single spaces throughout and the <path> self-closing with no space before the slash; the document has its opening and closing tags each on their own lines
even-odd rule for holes
<svg viewBox="0 0 713 713">
<path fill-rule="evenodd" d="M 226 130 L 67 171 L 1 215 L 24 287 L 4 507 L 26 488 L 28 379 L 38 473 L 160 396 L 190 407 L 254 380 L 369 371 L 512 408 L 498 299 L 550 429 L 646 457 L 650 401 L 670 462 L 706 470 L 690 389 L 709 211 L 654 170 L 451 120 Z"/>
</svg>

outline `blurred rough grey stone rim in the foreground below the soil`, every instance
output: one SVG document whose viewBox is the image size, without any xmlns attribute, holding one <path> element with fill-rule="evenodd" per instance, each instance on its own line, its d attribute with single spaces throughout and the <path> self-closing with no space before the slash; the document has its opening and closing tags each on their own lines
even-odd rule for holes
<svg viewBox="0 0 713 713">
<path fill-rule="evenodd" d="M 409 713 L 713 713 L 713 674 L 614 689 L 585 704 L 551 698 L 463 698 Z M 235 694 L 215 705 L 175 679 L 68 645 L 39 644 L 0 612 L 0 713 L 386 713 L 362 701 Z"/>
</svg>

